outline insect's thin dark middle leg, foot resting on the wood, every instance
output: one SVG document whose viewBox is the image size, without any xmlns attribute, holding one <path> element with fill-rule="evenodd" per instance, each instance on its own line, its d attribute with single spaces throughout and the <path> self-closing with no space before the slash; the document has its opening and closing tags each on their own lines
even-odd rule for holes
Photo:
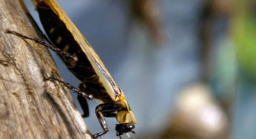
<svg viewBox="0 0 256 139">
<path fill-rule="evenodd" d="M 66 86 L 67 88 L 69 88 L 70 90 L 74 91 L 75 93 L 77 93 L 80 96 L 86 97 L 89 100 L 91 100 L 93 98 L 92 94 L 87 94 L 84 91 L 78 90 L 75 87 L 73 87 L 72 85 L 70 85 L 69 83 L 64 82 L 62 80 L 59 80 L 59 79 L 57 79 L 55 77 L 46 77 L 45 80 L 55 80 L 55 81 L 58 81 L 58 82 L 62 83 L 64 86 Z"/>
</svg>

